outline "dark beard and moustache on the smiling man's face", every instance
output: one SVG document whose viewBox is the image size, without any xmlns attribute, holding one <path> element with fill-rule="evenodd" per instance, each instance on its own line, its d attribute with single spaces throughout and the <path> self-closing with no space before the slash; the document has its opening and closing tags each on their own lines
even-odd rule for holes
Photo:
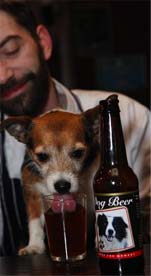
<svg viewBox="0 0 151 276">
<path fill-rule="evenodd" d="M 13 89 L 16 85 L 29 82 L 30 88 L 14 99 L 0 102 L 2 112 L 11 115 L 36 116 L 40 114 L 49 95 L 49 69 L 43 56 L 39 52 L 39 70 L 37 73 L 28 72 L 21 80 L 12 79 L 0 86 L 0 93 Z"/>
</svg>

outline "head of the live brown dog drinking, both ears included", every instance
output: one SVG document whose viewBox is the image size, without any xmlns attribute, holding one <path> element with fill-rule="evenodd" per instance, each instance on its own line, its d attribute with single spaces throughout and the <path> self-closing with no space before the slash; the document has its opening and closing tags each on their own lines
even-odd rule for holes
<svg viewBox="0 0 151 276">
<path fill-rule="evenodd" d="M 26 144 L 23 180 L 43 194 L 76 192 L 79 179 L 99 156 L 99 107 L 81 114 L 51 111 L 36 118 L 9 117 L 2 122 L 18 141 Z"/>
</svg>

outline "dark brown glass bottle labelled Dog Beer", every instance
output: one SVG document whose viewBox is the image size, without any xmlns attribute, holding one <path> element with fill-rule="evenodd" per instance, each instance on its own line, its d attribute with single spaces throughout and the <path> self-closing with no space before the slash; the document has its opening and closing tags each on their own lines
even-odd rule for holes
<svg viewBox="0 0 151 276">
<path fill-rule="evenodd" d="M 101 275 L 144 275 L 138 179 L 128 166 L 117 95 L 100 101 L 100 139 L 94 196 Z"/>
</svg>

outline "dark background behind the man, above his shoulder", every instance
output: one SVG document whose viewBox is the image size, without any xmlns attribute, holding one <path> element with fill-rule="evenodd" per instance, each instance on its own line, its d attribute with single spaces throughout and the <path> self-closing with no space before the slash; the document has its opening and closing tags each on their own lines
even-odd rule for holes
<svg viewBox="0 0 151 276">
<path fill-rule="evenodd" d="M 150 107 L 150 1 L 38 2 L 35 12 L 53 38 L 53 77 L 68 88 L 121 92 Z"/>
</svg>

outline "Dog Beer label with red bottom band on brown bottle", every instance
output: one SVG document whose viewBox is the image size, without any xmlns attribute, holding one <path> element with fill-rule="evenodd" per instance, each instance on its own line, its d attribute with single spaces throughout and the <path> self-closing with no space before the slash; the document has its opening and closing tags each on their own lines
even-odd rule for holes
<svg viewBox="0 0 151 276">
<path fill-rule="evenodd" d="M 95 194 L 98 255 L 133 258 L 142 254 L 138 191 Z"/>
</svg>

